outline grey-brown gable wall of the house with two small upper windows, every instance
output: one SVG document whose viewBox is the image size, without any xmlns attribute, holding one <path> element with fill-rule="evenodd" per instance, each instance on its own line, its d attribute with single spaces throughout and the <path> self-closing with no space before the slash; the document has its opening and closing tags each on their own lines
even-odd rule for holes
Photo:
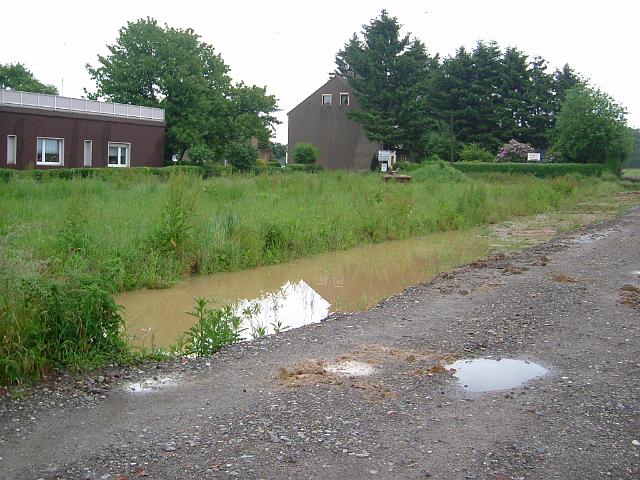
<svg viewBox="0 0 640 480">
<path fill-rule="evenodd" d="M 322 105 L 322 94 L 332 94 L 331 105 Z M 340 105 L 340 93 L 349 93 L 349 105 Z M 360 124 L 349 120 L 346 112 L 358 108 L 358 101 L 347 82 L 334 77 L 289 112 L 289 162 L 300 142 L 320 149 L 318 164 L 327 170 L 369 170 L 379 145 L 367 140 Z"/>
</svg>

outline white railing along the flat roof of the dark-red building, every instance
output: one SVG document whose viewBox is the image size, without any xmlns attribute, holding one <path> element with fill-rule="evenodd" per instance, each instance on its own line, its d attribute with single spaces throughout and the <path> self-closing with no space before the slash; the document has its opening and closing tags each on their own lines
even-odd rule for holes
<svg viewBox="0 0 640 480">
<path fill-rule="evenodd" d="M 21 92 L 19 90 L 0 90 L 0 105 L 164 122 L 164 110 L 162 108 L 98 102 L 97 100 L 88 100 L 86 98 L 60 97 L 58 95 Z"/>
</svg>

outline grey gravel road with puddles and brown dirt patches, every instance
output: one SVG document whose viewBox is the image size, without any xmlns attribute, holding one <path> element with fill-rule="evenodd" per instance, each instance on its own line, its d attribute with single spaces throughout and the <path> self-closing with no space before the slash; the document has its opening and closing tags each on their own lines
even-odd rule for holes
<svg viewBox="0 0 640 480">
<path fill-rule="evenodd" d="M 0 478 L 638 479 L 638 238 L 635 208 L 211 358 L 5 395 Z M 446 366 L 479 357 L 549 373 L 467 393 Z"/>
</svg>

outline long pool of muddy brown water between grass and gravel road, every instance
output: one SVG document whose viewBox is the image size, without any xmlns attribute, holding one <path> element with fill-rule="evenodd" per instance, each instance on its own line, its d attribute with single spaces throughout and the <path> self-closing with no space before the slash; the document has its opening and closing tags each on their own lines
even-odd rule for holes
<svg viewBox="0 0 640 480">
<path fill-rule="evenodd" d="M 194 298 L 234 304 L 237 312 L 258 305 L 245 322 L 245 338 L 263 327 L 267 334 L 319 322 L 332 312 L 374 306 L 405 288 L 428 281 L 455 265 L 485 256 L 485 238 L 475 232 L 447 232 L 390 241 L 258 267 L 195 277 L 163 290 L 137 290 L 116 297 L 124 306 L 133 343 L 167 347 L 193 325 Z"/>
</svg>

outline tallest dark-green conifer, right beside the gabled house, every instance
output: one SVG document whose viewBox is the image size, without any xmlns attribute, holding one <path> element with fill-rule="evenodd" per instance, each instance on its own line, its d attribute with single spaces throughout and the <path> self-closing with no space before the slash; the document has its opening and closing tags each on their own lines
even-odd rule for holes
<svg viewBox="0 0 640 480">
<path fill-rule="evenodd" d="M 384 148 L 409 145 L 430 123 L 424 94 L 437 60 L 419 40 L 401 35 L 398 20 L 385 10 L 362 28 L 336 55 L 338 73 L 360 103 L 348 115 Z"/>
</svg>

